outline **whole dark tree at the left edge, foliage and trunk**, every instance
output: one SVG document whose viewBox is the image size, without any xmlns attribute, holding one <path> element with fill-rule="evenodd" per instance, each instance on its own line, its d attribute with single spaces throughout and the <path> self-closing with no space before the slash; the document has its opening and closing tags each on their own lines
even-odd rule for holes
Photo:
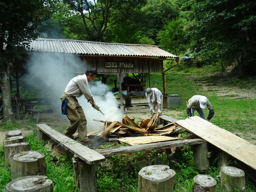
<svg viewBox="0 0 256 192">
<path fill-rule="evenodd" d="M 3 92 L 4 121 L 13 119 L 10 92 L 10 65 L 21 59 L 29 42 L 40 36 L 37 26 L 50 15 L 45 0 L 1 0 L 0 2 L 0 86 Z"/>
</svg>

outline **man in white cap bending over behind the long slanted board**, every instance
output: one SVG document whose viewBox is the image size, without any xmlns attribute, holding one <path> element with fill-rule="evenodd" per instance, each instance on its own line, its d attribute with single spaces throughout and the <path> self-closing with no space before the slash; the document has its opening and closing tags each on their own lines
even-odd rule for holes
<svg viewBox="0 0 256 192">
<path fill-rule="evenodd" d="M 188 106 L 187 106 L 187 109 L 186 109 L 187 114 L 190 118 L 191 116 L 194 116 L 194 111 L 196 110 L 198 112 L 199 116 L 202 119 L 205 119 L 204 109 L 206 107 L 209 109 L 209 115 L 208 115 L 206 121 L 210 121 L 210 119 L 214 115 L 214 110 L 212 108 L 212 105 L 211 105 L 210 101 L 205 96 L 194 95 L 193 97 L 191 97 L 188 100 Z"/>
</svg>

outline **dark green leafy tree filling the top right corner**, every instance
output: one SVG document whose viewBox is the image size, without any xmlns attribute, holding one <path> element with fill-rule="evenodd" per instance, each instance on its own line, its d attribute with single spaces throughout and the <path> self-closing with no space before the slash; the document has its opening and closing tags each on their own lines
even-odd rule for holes
<svg viewBox="0 0 256 192">
<path fill-rule="evenodd" d="M 190 19 L 195 30 L 190 33 L 191 45 L 209 63 L 233 58 L 240 74 L 244 66 L 255 67 L 256 2 L 253 0 L 197 0 Z M 244 64 L 244 66 L 243 66 Z"/>
</svg>

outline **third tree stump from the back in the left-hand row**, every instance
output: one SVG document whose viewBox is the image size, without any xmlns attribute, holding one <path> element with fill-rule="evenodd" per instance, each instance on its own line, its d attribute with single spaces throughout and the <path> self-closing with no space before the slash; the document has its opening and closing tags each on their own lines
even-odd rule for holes
<svg viewBox="0 0 256 192">
<path fill-rule="evenodd" d="M 14 143 L 4 146 L 4 159 L 5 159 L 5 169 L 11 166 L 13 156 L 22 152 L 22 151 L 29 151 L 29 144 L 28 143 Z"/>
</svg>

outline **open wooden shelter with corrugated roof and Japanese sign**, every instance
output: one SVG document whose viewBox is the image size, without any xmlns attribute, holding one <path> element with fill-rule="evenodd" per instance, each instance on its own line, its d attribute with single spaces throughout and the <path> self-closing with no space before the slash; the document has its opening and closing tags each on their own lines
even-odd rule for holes
<svg viewBox="0 0 256 192">
<path fill-rule="evenodd" d="M 95 68 L 98 71 L 97 77 L 102 83 L 106 83 L 109 75 L 116 74 L 118 80 L 113 92 L 145 93 L 146 87 L 143 77 L 150 73 L 162 73 L 163 92 L 166 94 L 165 72 L 170 68 L 164 70 L 163 60 L 174 60 L 176 62 L 174 66 L 179 64 L 179 57 L 155 45 L 38 38 L 30 43 L 29 48 L 28 52 L 23 55 L 24 59 L 22 61 L 15 60 L 10 68 L 12 79 L 14 78 L 16 81 L 17 98 L 20 98 L 19 79 L 26 73 L 26 59 L 32 54 L 38 54 L 38 56 L 39 54 L 49 54 L 49 56 L 58 54 L 63 57 L 64 62 L 68 62 L 70 59 L 75 60 L 76 65 L 70 65 L 64 70 L 76 75 L 82 75 L 87 69 Z M 63 64 L 64 66 L 67 65 Z M 133 74 L 134 78 L 124 77 L 124 74 L 128 73 Z M 120 95 L 120 105 L 123 103 L 122 97 L 123 94 Z"/>
</svg>

